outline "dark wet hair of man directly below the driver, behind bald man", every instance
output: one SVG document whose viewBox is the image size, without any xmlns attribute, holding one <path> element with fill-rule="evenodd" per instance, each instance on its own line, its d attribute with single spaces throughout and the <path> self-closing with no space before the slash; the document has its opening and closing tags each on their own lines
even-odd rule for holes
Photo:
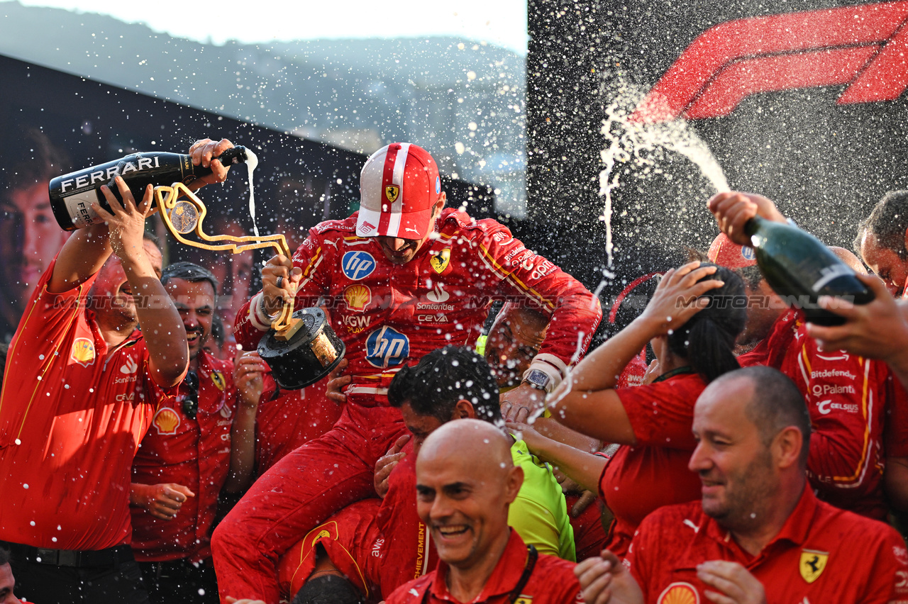
<svg viewBox="0 0 908 604">
<path fill-rule="evenodd" d="M 501 421 L 498 383 L 486 359 L 464 346 L 445 346 L 419 359 L 415 366 L 400 369 L 388 388 L 388 402 L 400 408 L 410 404 L 413 412 L 430 415 L 441 423 L 450 421 L 458 401 L 473 405 L 477 419 Z"/>
</svg>

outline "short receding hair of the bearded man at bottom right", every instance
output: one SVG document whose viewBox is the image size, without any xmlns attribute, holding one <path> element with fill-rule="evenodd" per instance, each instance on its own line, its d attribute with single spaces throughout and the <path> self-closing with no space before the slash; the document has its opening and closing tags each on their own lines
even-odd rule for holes
<svg viewBox="0 0 908 604">
<path fill-rule="evenodd" d="M 768 447 L 776 434 L 794 425 L 804 437 L 799 461 L 806 467 L 811 427 L 810 412 L 807 411 L 801 391 L 787 375 L 764 365 L 738 369 L 720 379 L 733 380 L 740 377 L 747 378 L 754 385 L 754 395 L 745 407 L 745 415 L 755 424 L 764 445 Z"/>
</svg>

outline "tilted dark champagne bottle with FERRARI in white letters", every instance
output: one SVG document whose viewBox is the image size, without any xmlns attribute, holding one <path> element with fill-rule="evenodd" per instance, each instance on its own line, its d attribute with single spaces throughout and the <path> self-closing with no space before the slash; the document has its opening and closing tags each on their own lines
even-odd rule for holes
<svg viewBox="0 0 908 604">
<path fill-rule="evenodd" d="M 224 151 L 218 160 L 224 165 L 242 163 L 254 158 L 252 151 L 245 147 L 233 147 Z M 61 229 L 84 229 L 102 219 L 91 208 L 97 202 L 110 211 L 102 185 L 108 185 L 117 200 L 123 201 L 120 191 L 114 186 L 114 177 L 122 176 L 126 186 L 133 192 L 136 201 L 142 199 L 149 184 L 170 185 L 173 182 L 189 184 L 202 176 L 211 174 L 211 168 L 192 165 L 189 155 L 152 151 L 133 153 L 120 160 L 108 161 L 99 166 L 77 170 L 50 181 L 49 193 L 54 217 Z"/>
</svg>

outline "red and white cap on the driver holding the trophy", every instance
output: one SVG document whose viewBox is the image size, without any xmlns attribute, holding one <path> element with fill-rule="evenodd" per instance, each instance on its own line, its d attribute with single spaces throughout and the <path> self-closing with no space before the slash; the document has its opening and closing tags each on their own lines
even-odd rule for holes
<svg viewBox="0 0 908 604">
<path fill-rule="evenodd" d="M 422 147 L 392 142 L 372 153 L 360 173 L 360 237 L 422 239 L 441 195 L 439 167 Z"/>
</svg>

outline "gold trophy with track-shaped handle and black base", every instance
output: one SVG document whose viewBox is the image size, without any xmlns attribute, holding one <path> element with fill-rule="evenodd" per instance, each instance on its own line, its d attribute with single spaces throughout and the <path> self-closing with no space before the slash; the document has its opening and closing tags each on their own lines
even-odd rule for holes
<svg viewBox="0 0 908 604">
<path fill-rule="evenodd" d="M 277 253 L 291 258 L 287 239 L 280 234 L 234 237 L 205 233 L 202 224 L 208 209 L 183 182 L 155 187 L 154 202 L 164 226 L 184 245 L 232 254 L 274 248 Z M 192 232 L 200 241 L 184 237 Z M 284 300 L 281 313 L 271 322 L 271 330 L 262 336 L 258 352 L 271 366 L 278 385 L 296 390 L 315 384 L 330 374 L 341 362 L 346 346 L 331 329 L 321 308 L 302 308 L 293 312 L 291 298 Z"/>
</svg>

